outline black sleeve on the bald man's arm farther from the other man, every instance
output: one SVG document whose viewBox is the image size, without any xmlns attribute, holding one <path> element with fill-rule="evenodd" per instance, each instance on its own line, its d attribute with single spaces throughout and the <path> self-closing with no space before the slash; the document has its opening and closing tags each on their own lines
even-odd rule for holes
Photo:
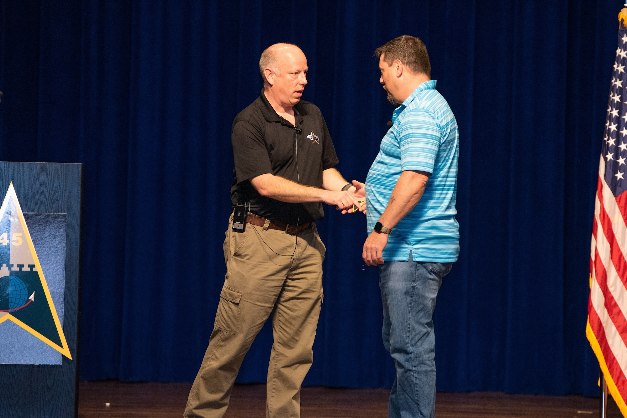
<svg viewBox="0 0 627 418">
<path fill-rule="evenodd" d="M 272 173 L 270 156 L 261 132 L 246 121 L 238 121 L 231 131 L 237 182 Z"/>
</svg>

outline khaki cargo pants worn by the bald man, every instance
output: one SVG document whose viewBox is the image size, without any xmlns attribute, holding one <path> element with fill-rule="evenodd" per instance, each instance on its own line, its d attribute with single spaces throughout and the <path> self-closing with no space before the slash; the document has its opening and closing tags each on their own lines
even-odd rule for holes
<svg viewBox="0 0 627 418">
<path fill-rule="evenodd" d="M 270 315 L 274 344 L 266 417 L 298 418 L 300 385 L 314 360 L 324 244 L 315 225 L 290 235 L 250 223 L 245 232 L 233 232 L 232 222 L 231 216 L 224 240 L 226 280 L 216 322 L 184 418 L 224 415 L 241 362 Z"/>
</svg>

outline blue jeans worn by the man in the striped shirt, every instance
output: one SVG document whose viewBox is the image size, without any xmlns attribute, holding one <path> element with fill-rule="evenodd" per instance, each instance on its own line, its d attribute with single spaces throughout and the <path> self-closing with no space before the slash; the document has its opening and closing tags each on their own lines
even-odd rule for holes
<svg viewBox="0 0 627 418">
<path fill-rule="evenodd" d="M 389 418 L 435 418 L 433 310 L 453 263 L 385 262 L 379 266 L 383 344 L 396 365 Z"/>
</svg>

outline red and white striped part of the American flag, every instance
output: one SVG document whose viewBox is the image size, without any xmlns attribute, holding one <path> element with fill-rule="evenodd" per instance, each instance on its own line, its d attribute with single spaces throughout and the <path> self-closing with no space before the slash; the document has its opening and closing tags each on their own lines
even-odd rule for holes
<svg viewBox="0 0 627 418">
<path fill-rule="evenodd" d="M 627 399 L 627 193 L 614 198 L 604 175 L 605 160 L 601 156 L 590 253 L 588 320 L 624 405 Z M 601 359 L 599 362 L 603 364 Z"/>
</svg>

